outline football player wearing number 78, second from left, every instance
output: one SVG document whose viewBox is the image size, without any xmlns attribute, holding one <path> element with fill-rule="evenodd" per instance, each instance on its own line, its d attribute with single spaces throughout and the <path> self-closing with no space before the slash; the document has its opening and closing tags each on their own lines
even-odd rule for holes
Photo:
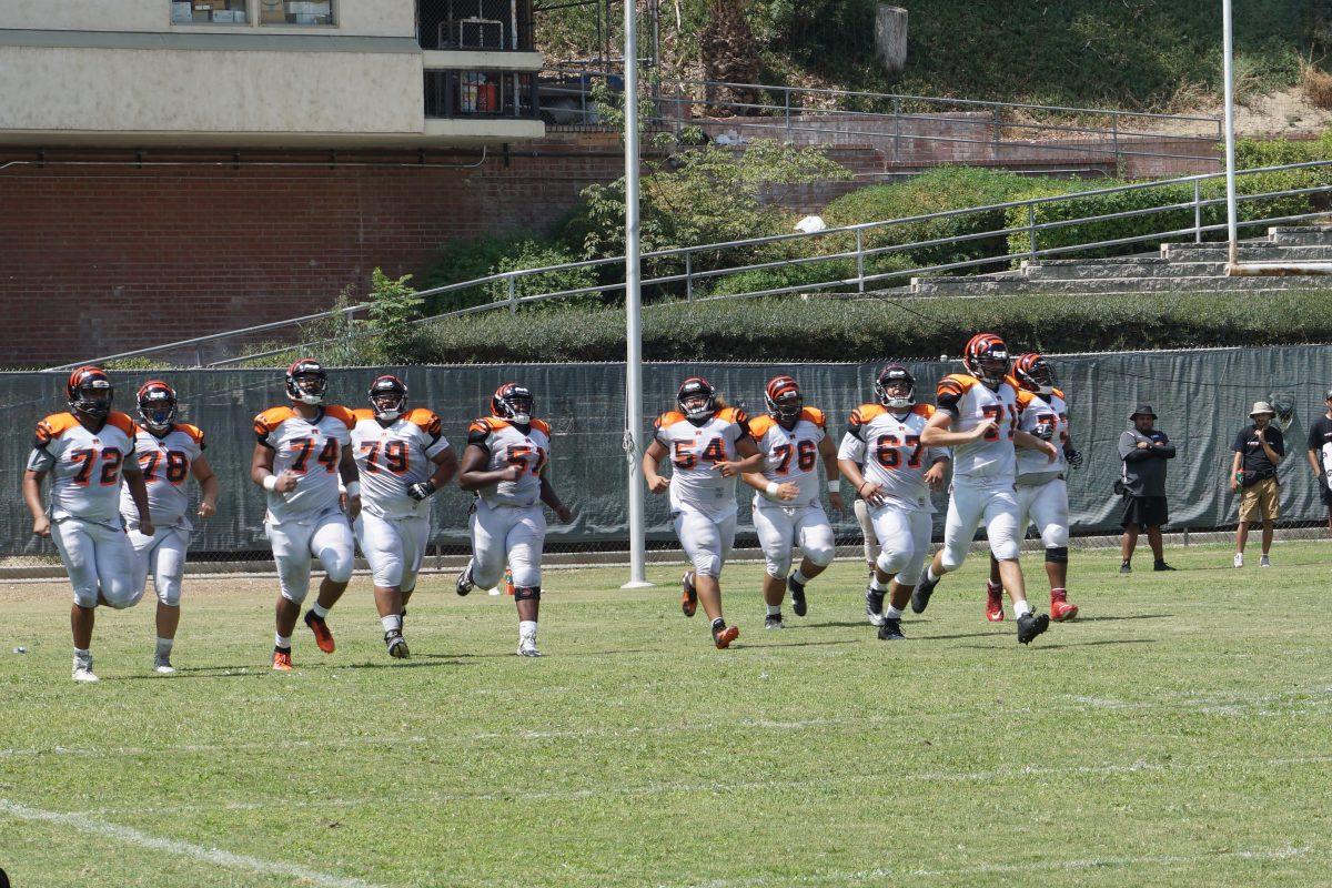
<svg viewBox="0 0 1332 888">
<path fill-rule="evenodd" d="M 129 542 L 135 546 L 135 582 L 140 587 L 153 576 L 157 590 L 157 648 L 153 668 L 163 675 L 176 671 L 170 664 L 176 628 L 180 626 L 180 591 L 185 575 L 185 550 L 193 526 L 185 513 L 189 493 L 185 482 L 190 475 L 198 482 L 202 498 L 198 517 L 210 518 L 217 513 L 217 475 L 204 455 L 204 433 L 196 426 L 176 422 L 176 391 L 160 379 L 145 382 L 139 389 L 139 434 L 135 451 L 139 467 L 148 486 L 148 509 L 153 531 L 143 533 L 139 513 L 129 487 L 120 494 L 120 515 L 129 529 Z"/>
</svg>

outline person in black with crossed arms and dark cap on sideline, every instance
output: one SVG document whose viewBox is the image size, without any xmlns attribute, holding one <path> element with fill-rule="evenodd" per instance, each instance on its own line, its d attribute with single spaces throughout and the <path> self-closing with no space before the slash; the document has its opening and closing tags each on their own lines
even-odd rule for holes
<svg viewBox="0 0 1332 888">
<path fill-rule="evenodd" d="M 1124 527 L 1120 546 L 1124 563 L 1119 566 L 1119 572 L 1132 572 L 1134 547 L 1144 529 L 1155 559 L 1152 570 L 1175 570 L 1166 563 L 1162 553 L 1162 525 L 1169 521 L 1166 461 L 1175 458 L 1175 445 L 1156 429 L 1156 414 L 1146 403 L 1138 405 L 1128 421 L 1134 427 L 1119 435 L 1119 458 L 1124 461 L 1119 487 L 1126 499 L 1124 519 L 1120 522 Z"/>
</svg>

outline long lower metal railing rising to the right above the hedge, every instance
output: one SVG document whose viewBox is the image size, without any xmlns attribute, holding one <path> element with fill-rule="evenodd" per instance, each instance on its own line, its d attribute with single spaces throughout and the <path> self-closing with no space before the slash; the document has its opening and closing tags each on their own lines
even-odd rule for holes
<svg viewBox="0 0 1332 888">
<path fill-rule="evenodd" d="M 1239 170 L 1236 173 L 1237 178 L 1243 182 L 1247 177 L 1296 170 L 1296 169 L 1332 169 L 1332 161 L 1311 161 L 1303 164 L 1287 164 L 1281 166 L 1263 166 L 1255 169 Z M 665 297 L 671 301 L 685 300 L 685 301 L 709 301 L 718 298 L 755 298 L 765 296 L 782 296 L 791 293 L 802 294 L 827 294 L 850 292 L 852 294 L 866 294 L 871 293 L 874 288 L 886 285 L 888 282 L 903 284 L 908 278 L 920 274 L 955 272 L 962 269 L 1006 269 L 1011 268 L 1015 262 L 1039 260 L 1040 257 L 1055 257 L 1055 256 L 1070 256 L 1076 253 L 1088 253 L 1095 250 L 1106 250 L 1111 248 L 1122 248 L 1134 244 L 1143 242 L 1160 242 L 1171 237 L 1191 237 L 1193 242 L 1201 244 L 1205 236 L 1213 232 L 1223 232 L 1225 229 L 1224 222 L 1205 222 L 1204 213 L 1208 208 L 1221 206 L 1225 202 L 1223 196 L 1208 197 L 1204 194 L 1204 185 L 1211 181 L 1217 181 L 1223 178 L 1223 173 L 1203 173 L 1195 176 L 1181 176 L 1177 178 L 1158 180 L 1151 182 L 1135 182 L 1132 185 L 1118 185 L 1114 188 L 1099 188 L 1088 189 L 1082 192 L 1072 192 L 1068 194 L 1050 196 L 1050 197 L 1034 197 L 1020 201 L 1007 201 L 1003 204 L 988 204 L 984 206 L 972 206 L 966 209 L 943 210 L 936 213 L 924 213 L 919 216 L 908 216 L 902 218 L 862 222 L 858 225 L 844 225 L 839 228 L 827 228 L 821 232 L 811 233 L 791 233 L 791 234 L 773 234 L 766 237 L 754 237 L 735 241 L 725 241 L 718 244 L 701 244 L 695 246 L 671 248 L 651 250 L 642 254 L 642 264 L 645 269 L 645 277 L 642 286 L 645 293 L 655 289 L 658 297 Z M 1054 218 L 1050 221 L 1040 221 L 1040 209 L 1046 206 L 1054 206 L 1058 204 L 1070 204 L 1076 201 L 1086 201 L 1088 198 L 1096 198 L 1107 194 L 1122 194 L 1146 189 L 1160 189 L 1169 186 L 1191 186 L 1191 196 L 1187 200 L 1179 201 L 1166 201 L 1162 204 L 1155 204 L 1151 206 L 1143 206 L 1138 209 L 1130 209 L 1115 213 L 1092 213 L 1087 216 L 1076 216 L 1071 218 Z M 1269 192 L 1256 192 L 1239 196 L 1239 201 L 1243 204 L 1259 200 L 1272 200 L 1283 197 L 1307 197 L 1315 194 L 1332 194 L 1332 185 L 1311 185 L 1304 188 L 1291 188 L 1283 190 L 1269 190 Z M 966 216 L 976 214 L 995 214 L 1003 213 L 1004 218 L 1012 218 L 1012 210 L 1018 210 L 1018 216 L 1023 220 L 1019 225 L 1004 224 L 999 228 L 986 228 L 979 232 L 968 232 L 964 234 L 948 234 L 943 237 L 927 237 L 910 240 L 904 238 L 900 242 L 888 242 L 883 245 L 874 245 L 874 236 L 888 232 L 890 229 L 906 229 L 912 230 L 907 226 L 924 226 L 931 222 L 939 222 L 946 220 L 956 220 Z M 1144 232 L 1142 234 L 1132 234 L 1127 237 L 1115 238 L 1102 238 L 1102 240 L 1088 240 L 1079 241 L 1075 244 L 1055 244 L 1055 245 L 1042 245 L 1042 240 L 1047 238 L 1051 232 L 1060 229 L 1067 229 L 1072 226 L 1086 226 L 1096 225 L 1100 222 L 1111 222 L 1116 220 L 1135 218 L 1135 217 L 1152 217 L 1163 213 L 1184 213 L 1189 212 L 1192 217 L 1191 225 L 1163 225 L 1162 228 L 1155 228 L 1151 232 Z M 1325 218 L 1332 216 L 1327 210 L 1309 210 L 1303 213 L 1289 213 L 1283 216 L 1267 216 L 1247 218 L 1240 222 L 1244 228 L 1276 225 L 1283 222 L 1297 222 L 1312 218 Z M 918 229 L 919 230 L 919 229 Z M 1010 240 L 1012 236 L 1026 236 L 1026 245 L 1022 249 L 1012 249 L 1014 244 Z M 974 242 L 978 244 L 978 249 L 983 253 L 980 256 L 974 256 L 970 258 L 944 261 L 944 262 L 924 262 L 915 264 L 907 262 L 910 268 L 890 268 L 890 269 L 876 269 L 871 264 L 872 260 L 879 257 L 888 257 L 894 254 L 919 253 L 930 248 L 938 246 L 956 246 L 960 244 Z M 781 248 L 785 245 L 799 245 L 799 249 L 786 254 L 777 256 L 771 250 L 774 248 Z M 987 245 L 994 245 L 995 249 L 984 249 Z M 1002 245 L 1002 248 L 999 246 Z M 747 261 L 727 264 L 730 260 L 727 254 L 742 254 Z M 758 260 L 758 261 L 755 261 Z M 614 297 L 617 294 L 622 296 L 623 282 L 618 280 L 611 280 L 609 282 L 597 282 L 587 286 L 569 288 L 553 292 L 538 292 L 534 294 L 522 296 L 525 290 L 533 289 L 533 281 L 539 282 L 541 276 L 558 274 L 578 270 L 607 270 L 611 274 L 619 266 L 623 265 L 623 257 L 607 257 L 599 260 L 585 260 L 581 262 L 566 262 L 561 265 L 551 265 L 534 269 L 522 269 L 514 272 L 502 272 L 498 274 L 490 274 L 482 278 L 472 281 L 461 281 L 457 284 L 449 284 L 445 286 L 430 288 L 426 290 L 420 290 L 416 296 L 421 298 L 428 297 L 441 297 L 448 294 L 460 294 L 469 290 L 480 292 L 489 301 L 478 302 L 476 305 L 460 308 L 452 312 L 444 312 L 426 318 L 416 321 L 418 325 L 433 324 L 445 321 L 448 318 L 464 317 L 468 314 L 477 314 L 485 312 L 507 310 L 515 313 L 519 308 L 534 305 L 538 302 L 547 302 L 554 300 L 566 300 L 571 297 Z M 733 281 L 737 276 L 763 272 L 773 269 L 793 269 L 801 266 L 817 266 L 817 265 L 831 265 L 834 273 L 827 278 L 814 278 L 806 280 L 799 284 L 793 284 L 789 286 L 777 288 L 762 288 L 762 289 L 743 289 L 737 288 L 734 292 L 718 293 L 718 282 L 731 278 Z M 650 269 L 655 269 L 651 273 L 646 273 Z M 854 272 L 851 274 L 838 274 L 839 269 L 846 269 Z M 609 276 L 609 274 L 607 274 Z M 539 289 L 539 286 L 537 288 Z M 262 324 L 256 326 L 244 328 L 240 330 L 230 330 L 226 333 L 214 333 L 202 337 L 194 337 L 190 339 L 181 339 L 178 342 L 169 342 L 166 345 L 151 346 L 145 349 L 136 349 L 131 351 L 121 351 L 117 354 L 109 354 L 99 358 L 92 358 L 92 362 L 108 362 L 108 361 L 133 361 L 141 358 L 157 358 L 165 361 L 170 355 L 176 355 L 177 363 L 190 363 L 193 366 L 208 366 L 208 367 L 222 367 L 233 366 L 237 363 L 244 363 L 246 361 L 257 361 L 266 357 L 284 354 L 294 349 L 301 347 L 314 347 L 329 343 L 349 343 L 354 342 L 361 337 L 376 335 L 373 329 L 362 328 L 360 330 L 350 329 L 349 324 L 358 314 L 364 314 L 369 309 L 369 304 L 353 305 L 344 309 L 336 309 L 332 312 L 321 312 L 317 314 L 308 314 L 297 318 L 289 318 L 285 321 L 274 321 L 270 324 Z M 649 309 L 651 305 L 647 306 Z M 329 333 L 324 332 L 316 338 L 310 338 L 308 332 L 312 325 L 336 326 L 342 325 L 337 332 Z M 273 333 L 286 330 L 294 335 L 284 337 L 285 341 L 274 342 L 269 338 Z M 306 333 L 302 335 L 302 330 Z M 245 350 L 246 346 L 252 346 L 250 350 Z M 242 351 L 242 353 L 241 353 Z M 59 367 L 51 367 L 52 370 L 61 370 L 77 366 L 79 363 L 87 363 L 89 361 L 79 361 L 73 363 L 61 365 Z"/>
</svg>

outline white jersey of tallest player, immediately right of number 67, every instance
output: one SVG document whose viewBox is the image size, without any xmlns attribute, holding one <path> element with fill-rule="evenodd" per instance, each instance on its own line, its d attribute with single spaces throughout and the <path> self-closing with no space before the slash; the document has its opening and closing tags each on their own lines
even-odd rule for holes
<svg viewBox="0 0 1332 888">
<path fill-rule="evenodd" d="M 1012 435 L 1031 397 L 1011 377 L 994 391 L 966 373 L 952 373 L 939 381 L 939 409 L 952 413 L 952 431 L 971 431 L 986 419 L 998 423 L 979 441 L 952 447 L 954 482 L 1016 479 Z"/>
</svg>

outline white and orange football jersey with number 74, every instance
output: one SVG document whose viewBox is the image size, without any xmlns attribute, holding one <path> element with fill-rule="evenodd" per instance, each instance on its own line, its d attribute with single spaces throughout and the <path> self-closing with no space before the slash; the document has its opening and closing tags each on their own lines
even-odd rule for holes
<svg viewBox="0 0 1332 888">
<path fill-rule="evenodd" d="M 296 490 L 266 490 L 268 521 L 273 525 L 316 521 L 338 509 L 338 463 L 352 443 L 356 418 L 346 407 L 328 406 L 304 419 L 292 407 L 272 407 L 254 417 L 254 435 L 273 449 L 273 474 L 290 470 Z"/>
</svg>

